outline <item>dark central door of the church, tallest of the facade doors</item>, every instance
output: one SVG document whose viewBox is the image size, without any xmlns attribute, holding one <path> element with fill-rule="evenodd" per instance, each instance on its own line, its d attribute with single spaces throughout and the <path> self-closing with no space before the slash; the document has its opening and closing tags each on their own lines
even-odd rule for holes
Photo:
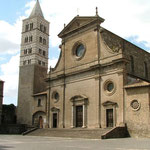
<svg viewBox="0 0 150 150">
<path fill-rule="evenodd" d="M 76 127 L 83 126 L 83 106 L 76 106 Z"/>
</svg>

